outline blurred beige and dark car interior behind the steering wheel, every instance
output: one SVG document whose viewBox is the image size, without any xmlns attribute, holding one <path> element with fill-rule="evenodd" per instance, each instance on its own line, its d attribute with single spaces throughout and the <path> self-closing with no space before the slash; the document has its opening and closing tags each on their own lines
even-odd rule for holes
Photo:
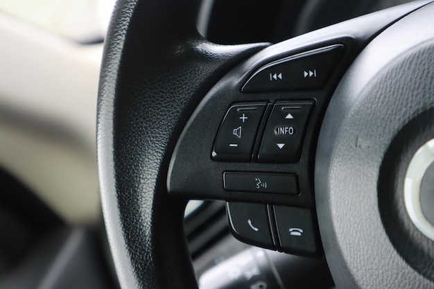
<svg viewBox="0 0 434 289">
<path fill-rule="evenodd" d="M 217 44 L 277 43 L 406 2 L 196 0 L 197 28 Z M 113 6 L 0 1 L 0 288 L 119 288 L 103 225 L 95 137 Z M 225 202 L 189 202 L 184 223 L 200 288 L 333 288 L 324 258 L 236 240 Z M 232 274 L 222 266 L 232 266 Z"/>
</svg>

